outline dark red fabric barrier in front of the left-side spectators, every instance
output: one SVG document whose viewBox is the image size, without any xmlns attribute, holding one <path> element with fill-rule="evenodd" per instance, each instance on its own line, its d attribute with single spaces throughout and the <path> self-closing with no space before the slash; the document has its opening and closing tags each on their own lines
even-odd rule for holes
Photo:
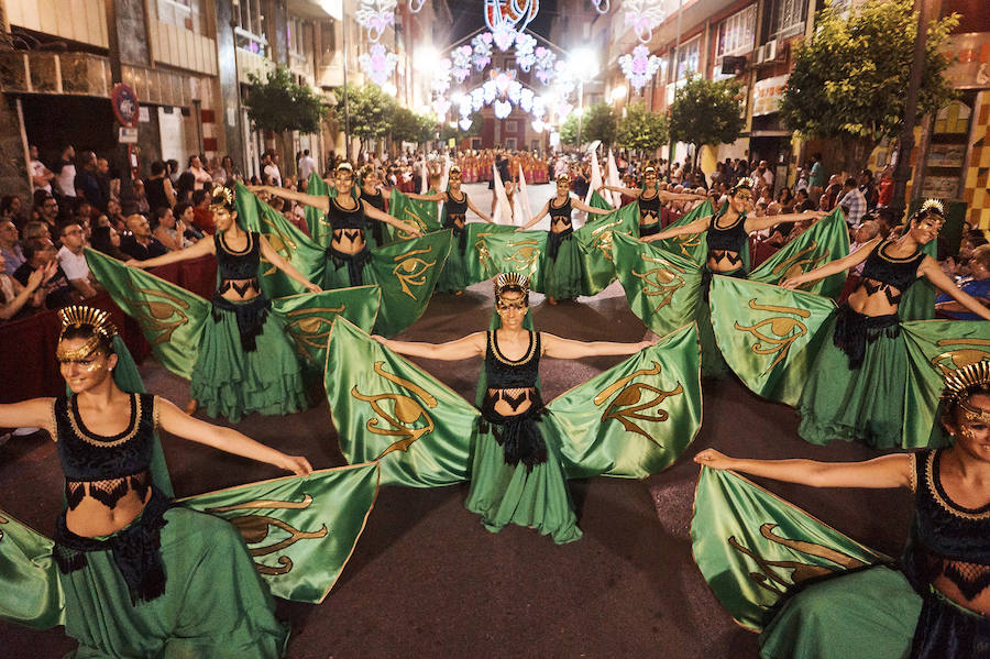
<svg viewBox="0 0 990 659">
<path fill-rule="evenodd" d="M 156 267 L 155 275 L 177 284 L 209 299 L 217 287 L 217 260 L 204 256 Z M 110 311 L 113 323 L 120 330 L 128 350 L 140 362 L 151 354 L 151 347 L 141 333 L 141 327 L 129 318 L 106 293 L 86 300 L 90 307 Z M 33 316 L 0 323 L 0 364 L 8 377 L 0 383 L 0 403 L 16 403 L 38 396 L 59 396 L 65 393 L 65 381 L 55 361 L 58 342 L 57 310 L 41 311 Z"/>
</svg>

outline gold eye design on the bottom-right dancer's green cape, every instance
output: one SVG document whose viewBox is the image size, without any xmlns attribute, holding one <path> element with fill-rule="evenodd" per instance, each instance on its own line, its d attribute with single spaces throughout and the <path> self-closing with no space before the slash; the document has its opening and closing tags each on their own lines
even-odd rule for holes
<svg viewBox="0 0 990 659">
<path fill-rule="evenodd" d="M 817 579 L 820 576 L 825 576 L 826 574 L 833 574 L 835 572 L 846 570 L 856 570 L 858 568 L 864 568 L 867 565 L 867 563 L 862 562 L 861 560 L 847 553 L 843 553 L 842 551 L 838 551 L 836 549 L 832 549 L 831 547 L 825 547 L 824 545 L 817 545 L 815 542 L 807 542 L 805 540 L 791 540 L 789 538 L 778 536 L 773 532 L 776 528 L 778 528 L 776 524 L 762 524 L 760 525 L 760 535 L 774 545 L 784 547 L 798 553 L 806 554 L 809 557 L 816 557 L 826 561 L 831 561 L 836 565 L 832 568 L 828 565 L 803 563 L 795 560 L 770 560 L 763 558 L 755 550 L 743 547 L 743 545 L 736 539 L 735 536 L 729 537 L 729 546 L 736 551 L 739 551 L 740 553 L 744 553 L 751 558 L 759 567 L 760 571 L 750 572 L 749 578 L 757 585 L 770 591 L 776 595 L 783 595 L 793 585 L 800 584 L 801 582 L 807 581 L 809 579 Z M 790 579 L 781 575 L 781 570 L 790 570 Z"/>
</svg>

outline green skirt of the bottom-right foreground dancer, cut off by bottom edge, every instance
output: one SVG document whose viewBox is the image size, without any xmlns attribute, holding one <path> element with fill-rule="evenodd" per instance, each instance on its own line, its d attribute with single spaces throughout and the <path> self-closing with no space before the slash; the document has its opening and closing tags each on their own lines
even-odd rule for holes
<svg viewBox="0 0 990 659">
<path fill-rule="evenodd" d="M 760 657 L 904 659 L 921 611 L 901 572 L 879 565 L 836 576 L 787 601 L 760 635 Z"/>
</svg>

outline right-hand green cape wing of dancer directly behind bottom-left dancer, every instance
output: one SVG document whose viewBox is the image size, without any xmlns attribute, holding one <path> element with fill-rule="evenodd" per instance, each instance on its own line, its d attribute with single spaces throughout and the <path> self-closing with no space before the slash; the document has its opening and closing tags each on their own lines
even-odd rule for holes
<svg viewBox="0 0 990 659">
<path fill-rule="evenodd" d="M 333 319 L 342 316 L 370 332 L 381 300 L 382 289 L 377 286 L 354 286 L 274 299 L 272 314 L 282 320 L 296 352 L 322 369 Z"/>
</svg>

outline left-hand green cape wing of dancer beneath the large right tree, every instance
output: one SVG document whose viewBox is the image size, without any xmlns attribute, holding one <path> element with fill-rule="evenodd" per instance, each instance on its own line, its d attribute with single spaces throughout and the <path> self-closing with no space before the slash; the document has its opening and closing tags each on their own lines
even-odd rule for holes
<svg viewBox="0 0 990 659">
<path fill-rule="evenodd" d="M 827 297 L 733 277 L 713 276 L 712 326 L 729 367 L 754 393 L 798 405 L 835 311 Z"/>
</svg>

